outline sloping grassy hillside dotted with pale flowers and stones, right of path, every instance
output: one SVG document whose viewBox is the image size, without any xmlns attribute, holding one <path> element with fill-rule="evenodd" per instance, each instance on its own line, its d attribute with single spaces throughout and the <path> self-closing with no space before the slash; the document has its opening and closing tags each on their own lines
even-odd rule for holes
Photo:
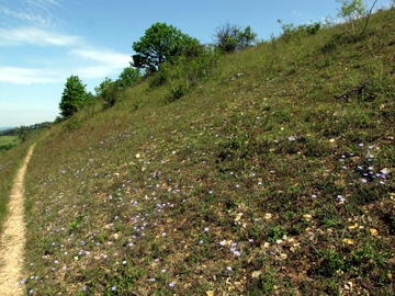
<svg viewBox="0 0 395 296">
<path fill-rule="evenodd" d="M 394 25 L 194 80 L 178 64 L 53 128 L 26 175 L 26 293 L 394 294 Z"/>
</svg>

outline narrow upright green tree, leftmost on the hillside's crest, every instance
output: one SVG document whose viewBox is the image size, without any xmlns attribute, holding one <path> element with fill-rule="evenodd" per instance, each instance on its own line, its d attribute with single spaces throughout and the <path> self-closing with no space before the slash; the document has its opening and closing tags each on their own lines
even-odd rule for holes
<svg viewBox="0 0 395 296">
<path fill-rule="evenodd" d="M 86 86 L 78 76 L 70 76 L 65 83 L 65 90 L 61 94 L 59 103 L 60 114 L 63 117 L 68 118 L 76 113 L 79 106 L 87 99 Z"/>
</svg>

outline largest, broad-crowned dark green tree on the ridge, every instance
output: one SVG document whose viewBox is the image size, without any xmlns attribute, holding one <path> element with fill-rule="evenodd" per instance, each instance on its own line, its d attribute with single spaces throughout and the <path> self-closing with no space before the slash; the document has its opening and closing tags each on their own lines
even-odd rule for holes
<svg viewBox="0 0 395 296">
<path fill-rule="evenodd" d="M 165 61 L 174 61 L 178 56 L 191 53 L 199 45 L 196 38 L 181 33 L 166 23 L 156 23 L 149 27 L 138 42 L 133 43 L 132 66 L 155 72 Z"/>
</svg>

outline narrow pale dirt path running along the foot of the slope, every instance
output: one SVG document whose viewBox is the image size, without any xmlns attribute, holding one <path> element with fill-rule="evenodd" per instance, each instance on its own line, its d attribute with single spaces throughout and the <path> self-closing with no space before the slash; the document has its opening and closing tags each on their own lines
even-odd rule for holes
<svg viewBox="0 0 395 296">
<path fill-rule="evenodd" d="M 16 173 L 10 194 L 10 212 L 4 223 L 4 232 L 1 236 L 0 294 L 4 296 L 22 295 L 23 292 L 21 286 L 16 286 L 16 282 L 22 277 L 25 243 L 23 178 L 34 145 L 29 149 L 23 166 Z"/>
</svg>

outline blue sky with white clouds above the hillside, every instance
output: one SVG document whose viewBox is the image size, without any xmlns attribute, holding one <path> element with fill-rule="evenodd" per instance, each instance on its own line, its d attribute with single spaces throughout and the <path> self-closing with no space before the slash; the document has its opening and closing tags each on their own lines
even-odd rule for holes
<svg viewBox="0 0 395 296">
<path fill-rule="evenodd" d="M 317 22 L 339 8 L 336 0 L 0 0 L 0 127 L 53 122 L 70 76 L 92 93 L 105 77 L 116 80 L 154 23 L 203 44 L 226 22 L 270 39 L 279 19 Z"/>
</svg>

